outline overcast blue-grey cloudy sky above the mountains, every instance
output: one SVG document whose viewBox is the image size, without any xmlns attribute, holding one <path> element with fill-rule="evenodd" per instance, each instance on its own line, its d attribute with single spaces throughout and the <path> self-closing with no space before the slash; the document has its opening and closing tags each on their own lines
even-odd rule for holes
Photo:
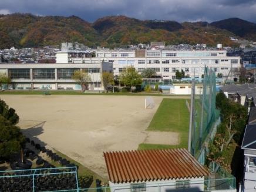
<svg viewBox="0 0 256 192">
<path fill-rule="evenodd" d="M 218 21 L 237 17 L 256 23 L 256 0 L 0 0 L 0 14 L 76 15 L 93 22 L 108 15 L 137 19 Z"/>
</svg>

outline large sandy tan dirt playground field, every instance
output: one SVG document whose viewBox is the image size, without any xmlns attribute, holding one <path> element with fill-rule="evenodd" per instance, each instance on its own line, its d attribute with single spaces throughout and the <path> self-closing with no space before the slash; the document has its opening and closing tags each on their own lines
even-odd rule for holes
<svg viewBox="0 0 256 192">
<path fill-rule="evenodd" d="M 144 109 L 145 96 L 1 95 L 1 99 L 16 110 L 26 136 L 107 177 L 103 151 L 136 150 L 140 143 L 150 143 L 153 135 L 145 130 L 163 97 L 153 97 L 154 109 Z M 151 140 L 157 143 L 163 137 Z"/>
</svg>

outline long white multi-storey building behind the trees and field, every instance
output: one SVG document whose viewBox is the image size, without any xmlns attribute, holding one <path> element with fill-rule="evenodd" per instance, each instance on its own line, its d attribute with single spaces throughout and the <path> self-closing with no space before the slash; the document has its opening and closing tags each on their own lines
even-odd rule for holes
<svg viewBox="0 0 256 192">
<path fill-rule="evenodd" d="M 97 49 L 95 57 L 88 56 L 86 52 L 60 51 L 56 53 L 56 62 L 68 63 L 100 63 L 102 61 L 113 63 L 114 75 L 127 66 L 134 66 L 139 72 L 145 68 L 153 69 L 158 78 L 175 79 L 176 70 L 184 70 L 185 75 L 201 78 L 204 67 L 212 68 L 216 75 L 232 75 L 238 78 L 240 68 L 239 56 L 227 56 L 225 50 L 171 50 L 171 49 Z"/>
</svg>

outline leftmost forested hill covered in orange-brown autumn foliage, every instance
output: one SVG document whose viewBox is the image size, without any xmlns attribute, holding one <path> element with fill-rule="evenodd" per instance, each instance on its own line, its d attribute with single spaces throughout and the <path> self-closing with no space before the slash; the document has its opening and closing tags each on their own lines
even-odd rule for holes
<svg viewBox="0 0 256 192">
<path fill-rule="evenodd" d="M 76 16 L 0 15 L 0 48 L 60 45 L 63 41 L 92 46 L 97 38 L 91 24 Z"/>
</svg>

